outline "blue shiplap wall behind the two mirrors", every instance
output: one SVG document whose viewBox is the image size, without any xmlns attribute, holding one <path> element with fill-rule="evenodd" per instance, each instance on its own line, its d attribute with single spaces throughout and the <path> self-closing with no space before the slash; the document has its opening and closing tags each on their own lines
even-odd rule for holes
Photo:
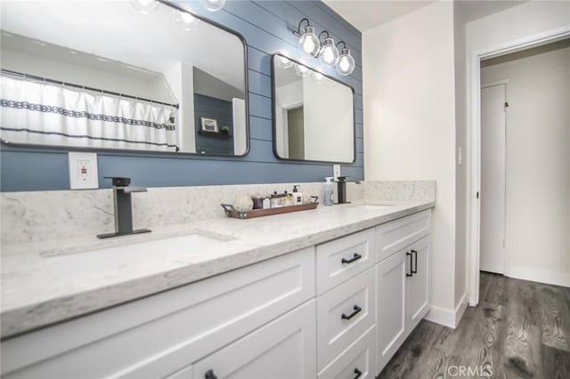
<svg viewBox="0 0 570 379">
<path fill-rule="evenodd" d="M 317 32 L 327 29 L 336 41 L 344 40 L 356 60 L 349 77 L 326 72 L 354 87 L 356 93 L 356 161 L 342 165 L 342 173 L 362 180 L 362 55 L 361 33 L 320 1 L 232 1 L 221 12 L 205 11 L 197 2 L 178 2 L 192 12 L 232 28 L 248 44 L 249 135 L 246 157 L 172 157 L 144 153 L 100 152 L 99 184 L 110 187 L 103 176 L 129 176 L 134 185 L 147 187 L 262 182 L 323 181 L 330 176 L 330 164 L 288 162 L 273 157 L 271 109 L 271 55 L 287 52 L 314 66 L 297 51 L 297 37 L 291 33 L 304 17 Z M 325 137 L 326 138 L 326 137 Z M 67 151 L 2 147 L 2 191 L 69 189 Z"/>
</svg>

